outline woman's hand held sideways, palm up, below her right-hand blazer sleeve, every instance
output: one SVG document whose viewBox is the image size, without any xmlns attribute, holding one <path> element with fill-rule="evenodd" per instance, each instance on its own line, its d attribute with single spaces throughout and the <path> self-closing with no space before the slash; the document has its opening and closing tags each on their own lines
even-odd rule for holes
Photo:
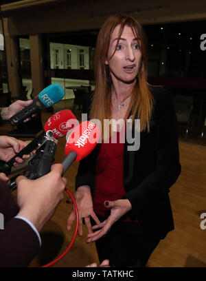
<svg viewBox="0 0 206 281">
<path fill-rule="evenodd" d="M 109 231 L 109 229 L 111 229 L 112 225 L 117 220 L 119 220 L 119 218 L 122 218 L 124 214 L 132 209 L 132 205 L 128 199 L 105 201 L 104 206 L 111 209 L 111 214 L 106 220 L 104 220 L 104 222 L 101 222 L 100 224 L 92 227 L 92 229 L 100 228 L 100 230 L 88 234 L 88 243 L 94 242 L 104 236 Z"/>
</svg>

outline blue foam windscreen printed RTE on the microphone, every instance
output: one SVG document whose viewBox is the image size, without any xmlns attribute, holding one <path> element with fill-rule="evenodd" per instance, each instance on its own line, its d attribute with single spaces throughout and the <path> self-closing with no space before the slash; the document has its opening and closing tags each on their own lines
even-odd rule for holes
<svg viewBox="0 0 206 281">
<path fill-rule="evenodd" d="M 45 89 L 38 94 L 38 98 L 45 107 L 50 107 L 58 103 L 64 96 L 65 91 L 58 83 L 45 87 Z"/>
</svg>

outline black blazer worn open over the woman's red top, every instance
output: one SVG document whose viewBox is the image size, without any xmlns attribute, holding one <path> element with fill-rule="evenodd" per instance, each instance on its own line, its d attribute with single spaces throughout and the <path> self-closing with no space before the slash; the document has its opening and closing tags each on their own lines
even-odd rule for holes
<svg viewBox="0 0 206 281">
<path fill-rule="evenodd" d="M 161 87 L 153 87 L 155 105 L 150 120 L 150 132 L 141 132 L 140 147 L 128 151 L 124 144 L 124 189 L 133 209 L 127 215 L 137 218 L 144 234 L 163 239 L 174 229 L 168 193 L 181 173 L 176 114 L 172 97 Z M 134 127 L 133 127 L 134 130 Z M 94 151 L 80 161 L 76 189 L 89 185 L 95 191 Z"/>
</svg>

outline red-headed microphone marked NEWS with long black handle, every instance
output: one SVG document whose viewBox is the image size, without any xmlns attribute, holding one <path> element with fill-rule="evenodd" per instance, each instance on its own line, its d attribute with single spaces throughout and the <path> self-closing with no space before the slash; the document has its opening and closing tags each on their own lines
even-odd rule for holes
<svg viewBox="0 0 206 281">
<path fill-rule="evenodd" d="M 45 123 L 45 132 L 41 133 L 37 138 L 34 138 L 34 140 L 21 149 L 18 154 L 8 160 L 8 162 L 5 162 L 4 165 L 0 167 L 0 172 L 2 171 L 8 176 L 16 157 L 21 158 L 25 154 L 30 154 L 37 146 L 38 148 L 41 147 L 41 145 L 45 143 L 48 135 L 56 139 L 66 136 L 68 130 L 72 130 L 76 125 L 78 125 L 78 120 L 71 110 L 61 110 L 52 115 Z"/>
</svg>

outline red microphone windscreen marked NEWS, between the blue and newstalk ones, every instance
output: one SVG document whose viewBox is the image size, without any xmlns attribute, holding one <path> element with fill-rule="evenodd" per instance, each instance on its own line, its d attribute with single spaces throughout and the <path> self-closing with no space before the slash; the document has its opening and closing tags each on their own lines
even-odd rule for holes
<svg viewBox="0 0 206 281">
<path fill-rule="evenodd" d="M 66 136 L 67 132 L 73 129 L 78 123 L 76 116 L 71 110 L 61 110 L 52 115 L 45 123 L 45 132 L 52 131 L 54 138 Z"/>
</svg>

